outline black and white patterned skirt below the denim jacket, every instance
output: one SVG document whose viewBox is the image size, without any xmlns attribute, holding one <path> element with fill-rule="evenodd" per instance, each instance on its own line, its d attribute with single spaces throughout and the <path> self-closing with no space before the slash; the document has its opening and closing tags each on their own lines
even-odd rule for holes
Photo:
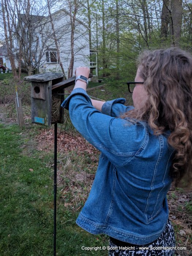
<svg viewBox="0 0 192 256">
<path fill-rule="evenodd" d="M 170 220 L 161 236 L 147 245 L 133 245 L 122 242 L 116 242 L 110 237 L 109 240 L 109 256 L 173 256 L 175 247 L 174 230 Z M 116 242 L 116 243 L 115 243 Z M 127 245 L 127 246 L 126 246 Z M 142 247 L 142 248 L 141 248 Z"/>
</svg>

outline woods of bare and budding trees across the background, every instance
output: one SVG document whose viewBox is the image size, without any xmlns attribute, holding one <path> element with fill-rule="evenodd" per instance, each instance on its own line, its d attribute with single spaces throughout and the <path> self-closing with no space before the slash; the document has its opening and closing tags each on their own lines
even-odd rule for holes
<svg viewBox="0 0 192 256">
<path fill-rule="evenodd" d="M 71 15 L 68 28 L 58 28 L 57 18 L 52 16 L 62 8 Z M 56 49 L 61 72 L 65 75 L 63 63 L 67 60 L 61 61 L 61 45 L 65 44 L 61 42 L 61 34 L 70 33 L 67 73 L 71 77 L 74 56 L 78 52 L 74 46 L 77 19 L 89 27 L 89 48 L 98 51 L 99 75 L 103 77 L 119 79 L 135 70 L 135 59 L 143 49 L 179 46 L 192 51 L 191 0 L 1 0 L 1 14 L 1 40 L 7 46 L 14 76 L 20 76 L 22 66 L 29 74 L 35 70 L 38 72 L 45 55 L 43 46 L 50 38 L 53 39 L 51 44 Z M 35 23 L 34 15 L 37 17 Z M 43 19 L 48 16 L 49 19 Z M 47 25 L 48 20 L 51 26 Z M 44 38 L 42 29 L 46 30 Z M 89 58 L 89 54 L 86 57 Z M 16 61 L 19 64 L 18 74 Z"/>
</svg>

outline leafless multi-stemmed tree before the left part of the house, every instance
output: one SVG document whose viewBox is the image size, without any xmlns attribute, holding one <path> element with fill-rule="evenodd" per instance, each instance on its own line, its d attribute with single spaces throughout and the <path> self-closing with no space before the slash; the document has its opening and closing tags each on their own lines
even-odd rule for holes
<svg viewBox="0 0 192 256">
<path fill-rule="evenodd" d="M 21 68 L 26 69 L 31 75 L 39 68 L 44 55 L 44 45 L 42 45 L 40 33 L 46 26 L 46 20 L 42 22 L 44 14 L 46 14 L 46 6 L 42 6 L 41 12 L 39 12 L 37 11 L 37 0 L 7 0 L 5 2 L 7 15 L 4 19 L 8 24 L 10 34 L 10 42 L 7 45 L 11 52 L 9 59 L 12 71 L 16 72 L 13 62 L 17 61 L 19 78 Z M 49 33 L 47 35 L 49 37 Z"/>
</svg>

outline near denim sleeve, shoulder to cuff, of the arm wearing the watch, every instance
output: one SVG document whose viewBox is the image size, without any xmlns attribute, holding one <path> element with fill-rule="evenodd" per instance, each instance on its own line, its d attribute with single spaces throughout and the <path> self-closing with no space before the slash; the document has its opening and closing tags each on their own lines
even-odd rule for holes
<svg viewBox="0 0 192 256">
<path fill-rule="evenodd" d="M 76 88 L 62 106 L 74 127 L 115 166 L 124 165 L 144 144 L 146 129 L 95 109 L 86 91 Z"/>
</svg>

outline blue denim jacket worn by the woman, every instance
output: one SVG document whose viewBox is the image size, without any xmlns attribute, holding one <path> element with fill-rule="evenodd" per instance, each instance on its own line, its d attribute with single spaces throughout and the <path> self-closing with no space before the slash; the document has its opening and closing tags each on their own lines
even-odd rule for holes
<svg viewBox="0 0 192 256">
<path fill-rule="evenodd" d="M 101 151 L 89 197 L 76 223 L 92 234 L 148 244 L 163 232 L 172 182 L 173 148 L 167 135 L 154 135 L 146 122 L 118 118 L 132 109 L 125 99 L 107 101 L 102 113 L 85 90 L 76 88 L 62 106 L 74 127 Z"/>
</svg>

